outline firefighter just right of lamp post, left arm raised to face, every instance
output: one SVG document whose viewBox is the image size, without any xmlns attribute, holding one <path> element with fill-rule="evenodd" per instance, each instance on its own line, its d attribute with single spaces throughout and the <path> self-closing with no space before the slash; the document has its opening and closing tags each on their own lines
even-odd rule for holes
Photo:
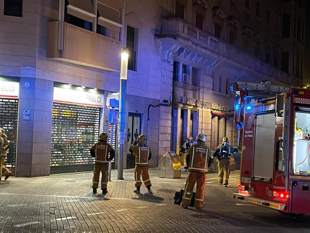
<svg viewBox="0 0 310 233">
<path fill-rule="evenodd" d="M 146 144 L 145 135 L 141 134 L 137 142 L 134 142 L 130 151 L 135 154 L 135 187 L 134 193 L 140 193 L 140 187 L 142 185 L 142 180 L 145 187 L 147 187 L 148 192 L 152 193 L 151 190 L 151 181 L 148 176 L 148 161 L 152 158 L 151 149 Z"/>
</svg>

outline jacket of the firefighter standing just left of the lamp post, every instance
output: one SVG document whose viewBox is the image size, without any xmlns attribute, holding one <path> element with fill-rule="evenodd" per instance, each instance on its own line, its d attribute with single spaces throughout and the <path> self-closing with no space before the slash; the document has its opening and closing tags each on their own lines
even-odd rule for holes
<svg viewBox="0 0 310 233">
<path fill-rule="evenodd" d="M 110 157 L 108 157 L 109 153 Z M 97 164 L 107 164 L 114 158 L 114 155 L 114 149 L 106 142 L 98 142 L 91 148 L 91 156 L 95 157 L 95 163 Z"/>
</svg>

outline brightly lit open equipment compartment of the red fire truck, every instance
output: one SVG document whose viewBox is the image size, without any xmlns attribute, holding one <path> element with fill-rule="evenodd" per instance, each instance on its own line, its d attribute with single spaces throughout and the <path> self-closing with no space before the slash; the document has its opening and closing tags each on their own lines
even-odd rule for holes
<svg viewBox="0 0 310 233">
<path fill-rule="evenodd" d="M 293 173 L 299 176 L 310 176 L 310 159 L 308 148 L 310 109 L 295 107 L 295 129 L 293 146 Z M 306 140 L 305 140 L 306 139 Z"/>
</svg>

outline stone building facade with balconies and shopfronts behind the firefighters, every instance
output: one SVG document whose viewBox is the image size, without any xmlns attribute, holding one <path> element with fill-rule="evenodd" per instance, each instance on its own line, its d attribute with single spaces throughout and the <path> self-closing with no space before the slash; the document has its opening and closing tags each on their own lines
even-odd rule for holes
<svg viewBox="0 0 310 233">
<path fill-rule="evenodd" d="M 201 132 L 211 149 L 225 135 L 234 144 L 230 83 L 299 83 L 300 76 L 281 71 L 285 4 L 0 0 L 0 122 L 10 139 L 7 166 L 16 176 L 92 169 L 89 148 L 111 128 L 109 105 L 118 98 L 122 47 L 130 52 L 124 168 L 134 166 L 129 146 L 148 128 L 151 167 L 165 151 L 179 154 L 184 140 Z M 160 105 L 163 100 L 171 106 Z M 116 149 L 117 138 L 115 130 Z"/>
</svg>

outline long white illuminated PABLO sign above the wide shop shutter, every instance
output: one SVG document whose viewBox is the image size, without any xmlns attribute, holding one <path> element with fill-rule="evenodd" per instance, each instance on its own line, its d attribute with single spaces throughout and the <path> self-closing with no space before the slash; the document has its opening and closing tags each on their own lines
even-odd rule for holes
<svg viewBox="0 0 310 233">
<path fill-rule="evenodd" d="M 53 101 L 55 103 L 103 107 L 103 94 L 54 87 Z"/>
</svg>

